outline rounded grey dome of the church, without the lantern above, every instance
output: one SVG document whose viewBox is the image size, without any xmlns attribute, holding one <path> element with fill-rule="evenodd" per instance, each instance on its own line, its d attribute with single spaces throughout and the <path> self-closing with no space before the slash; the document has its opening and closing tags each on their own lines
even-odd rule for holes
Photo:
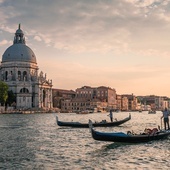
<svg viewBox="0 0 170 170">
<path fill-rule="evenodd" d="M 33 51 L 25 44 L 13 44 L 2 55 L 2 62 L 31 62 L 37 63 Z"/>
</svg>

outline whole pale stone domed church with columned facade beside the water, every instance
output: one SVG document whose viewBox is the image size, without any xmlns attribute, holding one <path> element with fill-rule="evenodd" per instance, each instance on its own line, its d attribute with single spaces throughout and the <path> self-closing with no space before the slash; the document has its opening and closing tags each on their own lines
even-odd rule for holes
<svg viewBox="0 0 170 170">
<path fill-rule="evenodd" d="M 0 65 L 0 80 L 15 94 L 17 109 L 52 108 L 52 80 L 38 70 L 36 56 L 26 45 L 19 24 L 13 45 L 2 55 Z"/>
</svg>

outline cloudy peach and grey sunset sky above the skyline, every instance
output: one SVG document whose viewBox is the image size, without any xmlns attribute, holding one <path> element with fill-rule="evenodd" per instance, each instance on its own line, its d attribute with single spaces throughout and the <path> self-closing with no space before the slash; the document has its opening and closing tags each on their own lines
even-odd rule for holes
<svg viewBox="0 0 170 170">
<path fill-rule="evenodd" d="M 53 88 L 170 97 L 170 0 L 0 0 L 0 61 L 19 23 Z"/>
</svg>

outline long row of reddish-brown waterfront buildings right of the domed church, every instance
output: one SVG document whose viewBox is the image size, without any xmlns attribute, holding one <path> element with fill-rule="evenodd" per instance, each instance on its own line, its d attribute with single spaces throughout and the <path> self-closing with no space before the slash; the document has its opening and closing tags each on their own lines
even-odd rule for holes
<svg viewBox="0 0 170 170">
<path fill-rule="evenodd" d="M 116 98 L 115 98 L 116 95 Z M 121 111 L 154 110 L 170 106 L 170 100 L 161 96 L 135 96 L 134 94 L 116 94 L 115 89 L 108 87 L 83 86 L 72 90 L 54 89 L 54 107 L 61 112 L 78 112 L 91 110 L 106 112 L 110 109 Z"/>
</svg>

